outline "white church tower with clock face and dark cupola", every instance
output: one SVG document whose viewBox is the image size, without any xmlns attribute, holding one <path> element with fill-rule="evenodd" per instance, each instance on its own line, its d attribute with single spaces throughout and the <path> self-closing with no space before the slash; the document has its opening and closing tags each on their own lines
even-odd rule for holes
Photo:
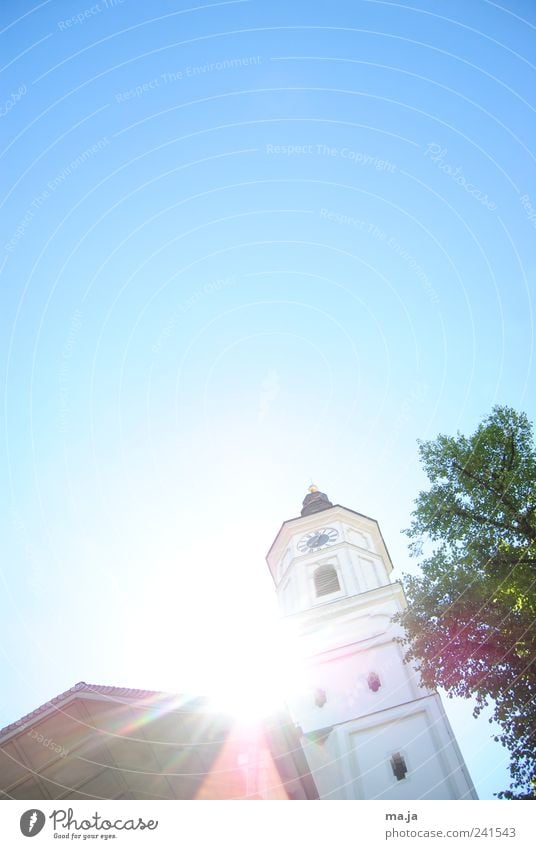
<svg viewBox="0 0 536 849">
<path fill-rule="evenodd" d="M 288 707 L 321 799 L 476 799 L 439 695 L 403 662 L 378 523 L 312 486 L 267 556 L 307 684 Z"/>
</svg>

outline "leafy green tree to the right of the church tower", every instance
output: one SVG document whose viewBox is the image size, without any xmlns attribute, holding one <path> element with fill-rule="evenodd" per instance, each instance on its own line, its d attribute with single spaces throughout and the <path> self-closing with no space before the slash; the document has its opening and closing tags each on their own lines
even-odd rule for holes
<svg viewBox="0 0 536 849">
<path fill-rule="evenodd" d="M 536 795 L 536 450 L 527 417 L 494 407 L 469 437 L 419 443 L 431 484 L 406 531 L 406 660 L 450 696 L 490 705 L 509 750 L 501 798 Z M 491 722 L 491 719 L 490 719 Z"/>
</svg>

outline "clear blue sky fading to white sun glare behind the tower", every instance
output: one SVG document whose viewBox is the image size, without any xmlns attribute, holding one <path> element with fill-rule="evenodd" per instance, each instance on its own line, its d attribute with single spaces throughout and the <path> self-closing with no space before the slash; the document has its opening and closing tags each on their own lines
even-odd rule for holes
<svg viewBox="0 0 536 849">
<path fill-rule="evenodd" d="M 311 478 L 399 578 L 416 440 L 536 418 L 536 6 L 4 0 L 0 30 L 0 724 L 247 680 Z M 446 707 L 490 798 L 504 750 Z"/>
</svg>

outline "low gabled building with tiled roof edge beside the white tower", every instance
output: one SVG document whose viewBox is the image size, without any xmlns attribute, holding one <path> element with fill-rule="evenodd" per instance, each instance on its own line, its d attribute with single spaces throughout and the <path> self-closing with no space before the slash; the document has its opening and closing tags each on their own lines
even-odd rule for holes
<svg viewBox="0 0 536 849">
<path fill-rule="evenodd" d="M 0 731 L 2 797 L 318 794 L 285 710 L 243 728 L 204 699 L 80 681 Z"/>
</svg>

